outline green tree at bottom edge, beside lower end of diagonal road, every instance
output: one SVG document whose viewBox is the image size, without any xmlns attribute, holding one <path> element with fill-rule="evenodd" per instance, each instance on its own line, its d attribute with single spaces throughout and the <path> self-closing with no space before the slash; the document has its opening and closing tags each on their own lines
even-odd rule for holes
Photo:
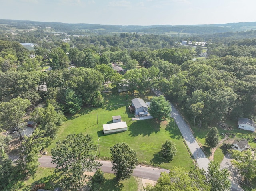
<svg viewBox="0 0 256 191">
<path fill-rule="evenodd" d="M 211 185 L 211 191 L 228 191 L 231 187 L 228 169 L 220 169 L 220 164 L 216 161 L 210 161 L 208 164 L 208 182 Z"/>
</svg>

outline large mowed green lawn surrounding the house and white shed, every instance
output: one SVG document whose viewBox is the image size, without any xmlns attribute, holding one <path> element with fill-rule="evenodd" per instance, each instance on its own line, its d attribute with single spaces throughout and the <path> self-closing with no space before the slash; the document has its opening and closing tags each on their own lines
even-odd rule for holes
<svg viewBox="0 0 256 191">
<path fill-rule="evenodd" d="M 104 94 L 104 106 L 82 108 L 80 113 L 67 116 L 68 120 L 60 127 L 58 137 L 48 147 L 48 153 L 50 154 L 50 150 L 54 148 L 57 141 L 64 140 L 68 134 L 82 132 L 93 136 L 95 144 L 98 144 L 97 140 L 99 139 L 98 159 L 110 160 L 110 147 L 118 142 L 126 142 L 132 149 L 136 150 L 140 164 L 154 165 L 165 169 L 172 166 L 181 166 L 189 171 L 194 163 L 173 119 L 164 122 L 158 122 L 155 119 L 132 121 L 132 114 L 127 109 L 131 100 L 139 97 L 145 102 L 149 102 L 152 96 L 151 93 L 135 94 L 134 96 L 129 94 L 126 101 L 126 93 Z M 112 123 L 112 116 L 116 115 L 121 115 L 122 121 L 126 121 L 128 130 L 104 135 L 102 125 Z M 177 148 L 177 154 L 171 162 L 157 155 L 166 139 L 171 139 Z"/>
</svg>

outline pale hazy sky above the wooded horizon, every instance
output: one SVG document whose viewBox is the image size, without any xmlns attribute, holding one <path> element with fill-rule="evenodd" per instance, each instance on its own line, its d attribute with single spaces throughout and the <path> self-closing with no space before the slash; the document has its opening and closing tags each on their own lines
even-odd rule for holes
<svg viewBox="0 0 256 191">
<path fill-rule="evenodd" d="M 255 22 L 256 0 L 0 0 L 0 19 L 109 25 Z"/>
</svg>

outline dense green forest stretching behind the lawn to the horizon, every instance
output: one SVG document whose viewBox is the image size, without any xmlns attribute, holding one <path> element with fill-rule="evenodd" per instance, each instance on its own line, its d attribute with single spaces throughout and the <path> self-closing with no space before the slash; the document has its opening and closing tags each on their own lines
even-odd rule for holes
<svg viewBox="0 0 256 191">
<path fill-rule="evenodd" d="M 2 170 L 33 176 L 38 157 L 32 154 L 56 137 L 64 114 L 77 113 L 82 106 L 100 107 L 103 90 L 117 92 L 124 85 L 131 94 L 159 89 L 199 128 L 225 118 L 256 119 L 255 23 L 247 23 L 251 28 L 246 31 L 239 30 L 241 24 L 228 28 L 0 23 L 0 127 L 19 131 L 29 114 L 40 137 L 37 142 L 22 141 L 24 146 L 33 144 L 20 151 L 19 168 L 5 157 L 0 162 L 9 169 Z M 36 30 L 30 31 L 32 26 Z M 206 46 L 183 46 L 182 40 L 205 41 Z M 36 45 L 28 51 L 20 43 Z M 198 58 L 203 50 L 207 57 Z M 126 73 L 117 73 L 111 63 L 122 63 Z M 2 156 L 5 142 L 1 140 Z M 0 189 L 14 186 L 14 174 L 0 183 Z"/>
</svg>

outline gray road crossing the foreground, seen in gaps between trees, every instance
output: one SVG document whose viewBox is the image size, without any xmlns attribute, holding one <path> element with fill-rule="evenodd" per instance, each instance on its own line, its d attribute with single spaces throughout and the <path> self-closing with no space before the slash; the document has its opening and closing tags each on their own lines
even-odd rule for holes
<svg viewBox="0 0 256 191">
<path fill-rule="evenodd" d="M 56 166 L 55 164 L 51 163 L 52 156 L 42 156 L 41 158 L 38 159 L 38 161 L 41 167 L 55 168 Z M 102 169 L 103 172 L 113 173 L 113 171 L 111 170 L 112 168 L 111 161 L 99 161 L 99 162 L 102 163 L 102 166 L 100 168 Z M 136 177 L 157 181 L 158 178 L 160 177 L 161 172 L 169 173 L 170 171 L 166 169 L 156 168 L 156 167 L 138 165 L 134 169 L 133 175 Z"/>
</svg>

